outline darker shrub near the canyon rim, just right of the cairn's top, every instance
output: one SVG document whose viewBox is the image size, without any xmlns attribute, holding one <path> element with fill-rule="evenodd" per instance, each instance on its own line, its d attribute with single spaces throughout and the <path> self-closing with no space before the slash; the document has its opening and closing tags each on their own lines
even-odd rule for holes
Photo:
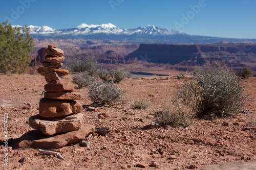
<svg viewBox="0 0 256 170">
<path fill-rule="evenodd" d="M 88 72 L 88 75 L 94 76 L 97 74 L 98 65 L 94 56 L 86 58 L 68 59 L 66 60 L 67 67 L 73 72 Z"/>
</svg>

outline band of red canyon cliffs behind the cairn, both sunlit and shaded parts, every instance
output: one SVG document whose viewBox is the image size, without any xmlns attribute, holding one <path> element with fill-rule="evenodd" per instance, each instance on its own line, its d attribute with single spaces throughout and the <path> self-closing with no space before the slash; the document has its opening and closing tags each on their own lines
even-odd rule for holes
<svg viewBox="0 0 256 170">
<path fill-rule="evenodd" d="M 256 70 L 256 45 L 250 43 L 220 44 L 130 44 L 82 46 L 62 45 L 65 57 L 95 56 L 104 67 L 122 66 L 134 71 L 140 66 L 193 70 L 207 61 L 223 61 L 234 69 L 248 66 Z M 42 48 L 32 53 L 29 73 L 35 73 L 44 59 Z M 142 64 L 143 63 L 143 64 Z M 131 66 L 132 65 L 132 66 Z M 168 66 L 166 66 L 168 65 Z"/>
</svg>

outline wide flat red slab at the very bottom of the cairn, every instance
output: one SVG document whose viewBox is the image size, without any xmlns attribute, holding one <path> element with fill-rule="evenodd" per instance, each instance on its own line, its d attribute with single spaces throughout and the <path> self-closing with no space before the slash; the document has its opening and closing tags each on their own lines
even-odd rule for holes
<svg viewBox="0 0 256 170">
<path fill-rule="evenodd" d="M 40 130 L 32 130 L 20 138 L 13 139 L 10 145 L 16 148 L 57 149 L 69 143 L 77 143 L 95 131 L 93 125 L 83 125 L 81 129 L 61 134 L 45 135 Z"/>
</svg>

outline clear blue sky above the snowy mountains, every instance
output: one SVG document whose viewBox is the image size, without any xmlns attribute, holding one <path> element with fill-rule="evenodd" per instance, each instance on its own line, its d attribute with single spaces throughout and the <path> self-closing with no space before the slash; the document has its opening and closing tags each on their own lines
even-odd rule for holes
<svg viewBox="0 0 256 170">
<path fill-rule="evenodd" d="M 0 21 L 55 29 L 156 25 L 191 35 L 256 38 L 255 8 L 254 0 L 10 0 L 0 1 Z"/>
</svg>

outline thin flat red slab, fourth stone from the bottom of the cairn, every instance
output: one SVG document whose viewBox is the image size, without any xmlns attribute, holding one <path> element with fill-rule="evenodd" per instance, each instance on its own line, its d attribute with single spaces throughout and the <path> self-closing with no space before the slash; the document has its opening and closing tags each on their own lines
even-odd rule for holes
<svg viewBox="0 0 256 170">
<path fill-rule="evenodd" d="M 46 99 L 80 100 L 82 95 L 76 92 L 45 92 Z"/>
</svg>

